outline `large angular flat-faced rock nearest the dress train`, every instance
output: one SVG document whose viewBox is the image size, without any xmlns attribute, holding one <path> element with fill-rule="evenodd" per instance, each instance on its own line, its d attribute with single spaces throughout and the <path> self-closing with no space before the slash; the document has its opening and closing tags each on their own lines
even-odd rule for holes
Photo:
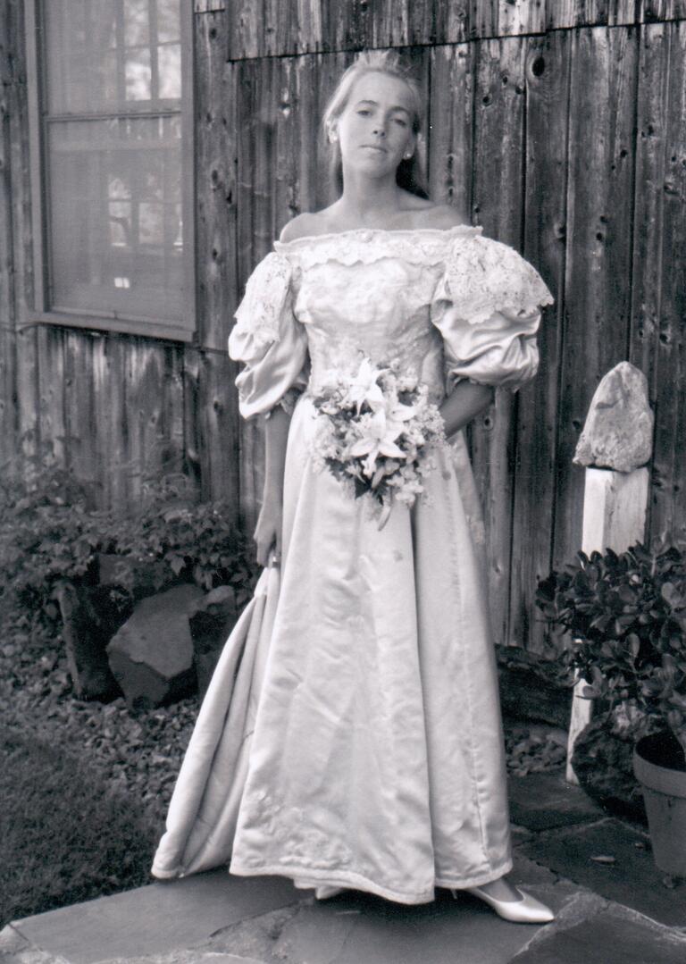
<svg viewBox="0 0 686 964">
<path fill-rule="evenodd" d="M 196 687 L 188 622 L 203 593 L 182 585 L 138 603 L 107 647 L 110 668 L 132 709 L 171 703 Z"/>
</svg>

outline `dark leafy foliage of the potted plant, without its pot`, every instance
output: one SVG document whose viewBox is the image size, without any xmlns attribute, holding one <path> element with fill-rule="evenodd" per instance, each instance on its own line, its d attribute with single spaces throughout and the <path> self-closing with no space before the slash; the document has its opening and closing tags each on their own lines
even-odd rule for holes
<svg viewBox="0 0 686 964">
<path fill-rule="evenodd" d="M 686 559 L 679 549 L 606 549 L 541 580 L 537 603 L 573 644 L 562 657 L 625 729 L 670 729 L 686 750 Z"/>
</svg>

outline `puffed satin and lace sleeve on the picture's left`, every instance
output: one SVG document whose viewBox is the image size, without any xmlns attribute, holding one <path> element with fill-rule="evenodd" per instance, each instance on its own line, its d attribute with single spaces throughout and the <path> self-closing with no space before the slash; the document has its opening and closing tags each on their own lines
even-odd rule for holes
<svg viewBox="0 0 686 964">
<path fill-rule="evenodd" d="M 228 336 L 228 354 L 244 367 L 236 379 L 244 418 L 291 412 L 306 385 L 307 337 L 293 313 L 293 269 L 280 254 L 267 254 L 248 279 Z"/>
</svg>

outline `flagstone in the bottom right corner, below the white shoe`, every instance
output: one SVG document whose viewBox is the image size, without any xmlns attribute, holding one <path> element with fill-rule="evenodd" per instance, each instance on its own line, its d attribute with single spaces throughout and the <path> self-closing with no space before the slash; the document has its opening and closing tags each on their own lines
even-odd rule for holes
<svg viewBox="0 0 686 964">
<path fill-rule="evenodd" d="M 532 941 L 512 964 L 683 964 L 686 937 L 610 907 L 594 918 Z"/>
</svg>

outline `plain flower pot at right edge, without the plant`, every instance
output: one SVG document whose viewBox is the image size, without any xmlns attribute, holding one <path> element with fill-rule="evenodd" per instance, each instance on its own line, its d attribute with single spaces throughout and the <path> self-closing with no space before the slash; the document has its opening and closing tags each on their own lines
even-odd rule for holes
<svg viewBox="0 0 686 964">
<path fill-rule="evenodd" d="M 686 877 L 686 762 L 676 737 L 656 733 L 640 739 L 634 773 L 644 791 L 655 864 Z"/>
</svg>

